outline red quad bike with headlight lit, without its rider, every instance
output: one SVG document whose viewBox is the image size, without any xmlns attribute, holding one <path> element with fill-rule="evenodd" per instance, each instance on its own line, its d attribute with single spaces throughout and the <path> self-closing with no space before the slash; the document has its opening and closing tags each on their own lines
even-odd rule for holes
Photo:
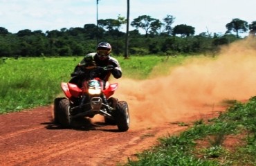
<svg viewBox="0 0 256 166">
<path fill-rule="evenodd" d="M 71 122 L 79 118 L 93 118 L 96 114 L 104 116 L 106 124 L 116 124 L 119 131 L 129 129 L 129 109 L 125 101 L 111 97 L 118 88 L 118 83 L 103 82 L 95 73 L 98 67 L 87 70 L 82 80 L 82 87 L 62 82 L 61 87 L 66 98 L 55 98 L 55 123 L 62 127 L 71 127 Z M 104 68 L 111 70 L 111 68 Z"/>
</svg>

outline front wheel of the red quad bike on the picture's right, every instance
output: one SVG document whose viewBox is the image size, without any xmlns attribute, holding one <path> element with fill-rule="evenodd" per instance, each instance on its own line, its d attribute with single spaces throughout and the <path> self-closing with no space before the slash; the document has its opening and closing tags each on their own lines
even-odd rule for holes
<svg viewBox="0 0 256 166">
<path fill-rule="evenodd" d="M 119 131 L 127 131 L 129 129 L 129 108 L 125 101 L 118 102 L 115 113 L 116 123 Z"/>
</svg>

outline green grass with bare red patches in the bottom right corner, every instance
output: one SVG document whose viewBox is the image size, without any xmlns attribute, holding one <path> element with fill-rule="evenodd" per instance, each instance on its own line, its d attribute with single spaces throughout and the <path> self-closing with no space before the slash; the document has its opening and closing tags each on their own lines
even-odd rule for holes
<svg viewBox="0 0 256 166">
<path fill-rule="evenodd" d="M 256 97 L 235 102 L 218 118 L 198 120 L 125 165 L 256 165 Z M 183 124 L 183 122 L 181 122 Z"/>
</svg>

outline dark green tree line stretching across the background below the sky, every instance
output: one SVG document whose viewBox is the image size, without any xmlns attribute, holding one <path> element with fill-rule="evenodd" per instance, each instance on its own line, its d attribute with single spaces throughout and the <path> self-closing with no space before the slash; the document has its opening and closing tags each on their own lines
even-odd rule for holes
<svg viewBox="0 0 256 166">
<path fill-rule="evenodd" d="M 131 55 L 176 55 L 209 53 L 223 44 L 241 39 L 240 33 L 249 30 L 255 36 L 256 21 L 248 24 L 241 19 L 232 19 L 226 24 L 224 35 L 203 32 L 194 35 L 195 28 L 186 24 L 172 27 L 175 17 L 167 15 L 163 21 L 149 15 L 141 15 L 131 21 L 135 30 L 129 31 L 129 54 Z M 95 52 L 98 42 L 107 41 L 113 47 L 113 54 L 123 55 L 125 33 L 120 28 L 126 24 L 125 17 L 99 19 L 98 25 L 62 28 L 60 30 L 19 30 L 10 33 L 0 27 L 0 57 L 76 56 Z M 140 34 L 144 30 L 145 34 Z M 235 33 L 235 35 L 233 34 Z"/>
</svg>

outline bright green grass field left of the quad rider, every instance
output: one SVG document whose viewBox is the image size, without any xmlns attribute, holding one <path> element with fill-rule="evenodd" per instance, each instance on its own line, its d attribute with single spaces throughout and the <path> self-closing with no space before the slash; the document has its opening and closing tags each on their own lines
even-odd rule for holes
<svg viewBox="0 0 256 166">
<path fill-rule="evenodd" d="M 60 82 L 68 81 L 77 63 L 73 59 L 20 58 L 0 64 L 0 113 L 50 104 Z"/>
</svg>

